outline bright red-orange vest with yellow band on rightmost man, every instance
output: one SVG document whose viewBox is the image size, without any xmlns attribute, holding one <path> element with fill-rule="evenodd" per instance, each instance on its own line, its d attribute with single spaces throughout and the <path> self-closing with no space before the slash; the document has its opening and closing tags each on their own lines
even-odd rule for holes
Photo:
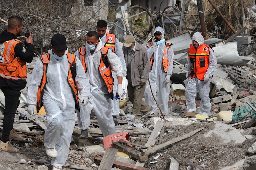
<svg viewBox="0 0 256 170">
<path fill-rule="evenodd" d="M 197 77 L 199 80 L 204 80 L 204 75 L 209 67 L 209 46 L 202 44 L 195 48 L 190 44 L 188 57 L 191 62 L 190 78 Z"/>
</svg>

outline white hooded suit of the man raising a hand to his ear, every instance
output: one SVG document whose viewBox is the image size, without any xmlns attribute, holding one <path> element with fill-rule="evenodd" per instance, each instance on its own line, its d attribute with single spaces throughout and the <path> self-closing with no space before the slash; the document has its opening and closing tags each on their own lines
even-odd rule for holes
<svg viewBox="0 0 256 170">
<path fill-rule="evenodd" d="M 149 72 L 149 80 L 150 80 L 150 85 L 152 88 L 152 92 L 154 96 L 156 97 L 156 91 L 157 91 L 157 102 L 159 105 L 163 104 L 160 106 L 162 113 L 164 115 L 168 114 L 168 101 L 169 101 L 169 86 L 168 83 L 165 84 L 164 80 L 167 75 L 172 76 L 172 68 L 173 68 L 173 49 L 172 46 L 169 48 L 168 53 L 167 53 L 167 58 L 168 58 L 168 67 L 167 67 L 167 73 L 163 69 L 163 55 L 164 55 L 164 49 L 165 49 L 165 40 L 164 40 L 164 30 L 161 27 L 156 27 L 154 34 L 156 31 L 161 32 L 162 34 L 162 43 L 158 44 L 153 47 L 147 47 L 148 50 L 148 55 L 151 57 L 152 54 L 154 53 L 154 62 L 151 71 Z M 160 41 L 161 41 L 160 40 Z M 144 93 L 145 97 L 145 102 L 148 103 L 151 107 L 155 108 L 156 107 L 156 102 L 152 96 L 151 90 L 149 83 L 147 81 L 146 83 L 146 89 Z"/>
</svg>

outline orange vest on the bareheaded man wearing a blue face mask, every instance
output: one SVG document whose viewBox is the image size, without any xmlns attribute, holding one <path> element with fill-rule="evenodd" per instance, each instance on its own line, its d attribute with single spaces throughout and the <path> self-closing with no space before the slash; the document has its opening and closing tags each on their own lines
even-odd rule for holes
<svg viewBox="0 0 256 170">
<path fill-rule="evenodd" d="M 79 48 L 79 59 L 84 67 L 84 71 L 87 72 L 86 64 L 85 64 L 85 53 L 86 53 L 86 48 L 85 47 L 80 47 Z M 108 48 L 102 47 L 101 48 L 101 60 L 100 60 L 100 65 L 98 67 L 100 71 L 100 75 L 103 78 L 107 88 L 108 88 L 108 94 L 109 97 L 113 100 L 113 85 L 114 85 L 114 78 L 112 76 L 111 69 L 109 68 L 108 63 L 104 62 L 107 61 L 107 54 L 108 54 Z M 104 60 L 103 60 L 104 58 Z"/>
</svg>

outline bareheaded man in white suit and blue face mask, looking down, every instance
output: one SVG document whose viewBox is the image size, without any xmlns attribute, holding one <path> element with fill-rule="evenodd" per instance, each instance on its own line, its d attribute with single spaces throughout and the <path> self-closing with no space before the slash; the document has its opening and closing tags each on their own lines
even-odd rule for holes
<svg viewBox="0 0 256 170">
<path fill-rule="evenodd" d="M 89 103 L 86 106 L 80 105 L 80 113 L 77 114 L 78 128 L 82 130 L 80 138 L 88 138 L 91 113 L 96 115 L 103 136 L 116 133 L 111 108 L 111 100 L 115 95 L 114 79 L 110 68 L 116 73 L 117 94 L 123 97 L 122 78 L 126 72 L 120 59 L 110 49 L 102 46 L 96 31 L 87 33 L 85 47 L 79 48 L 75 54 L 81 60 L 91 87 Z"/>
</svg>

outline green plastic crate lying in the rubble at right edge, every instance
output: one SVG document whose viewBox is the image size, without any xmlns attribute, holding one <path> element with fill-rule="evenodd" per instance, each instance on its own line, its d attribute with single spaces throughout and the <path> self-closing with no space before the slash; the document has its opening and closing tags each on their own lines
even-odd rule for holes
<svg viewBox="0 0 256 170">
<path fill-rule="evenodd" d="M 251 104 L 252 104 L 253 107 L 255 107 L 253 101 L 251 101 Z M 252 110 L 252 108 L 247 103 L 239 106 L 238 109 L 235 110 L 234 113 L 233 113 L 232 121 L 239 121 L 242 117 L 247 115 L 251 110 Z M 250 115 L 253 115 L 255 113 L 256 112 L 254 110 L 252 110 Z M 249 115 L 247 115 L 247 116 L 249 116 Z M 250 118 L 253 118 L 253 117 L 255 117 L 255 115 L 250 116 Z"/>
</svg>

